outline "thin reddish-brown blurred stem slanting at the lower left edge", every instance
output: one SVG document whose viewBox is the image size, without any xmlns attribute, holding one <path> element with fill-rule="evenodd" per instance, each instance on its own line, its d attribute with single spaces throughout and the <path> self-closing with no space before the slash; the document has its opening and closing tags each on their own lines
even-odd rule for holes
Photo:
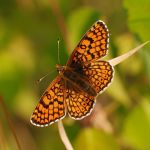
<svg viewBox="0 0 150 150">
<path fill-rule="evenodd" d="M 7 122 L 8 122 L 8 126 L 9 126 L 9 128 L 10 128 L 10 130 L 11 130 L 13 136 L 14 136 L 14 139 L 15 139 L 16 143 L 17 143 L 17 147 L 18 147 L 19 150 L 21 150 L 21 146 L 20 146 L 20 144 L 19 144 L 19 141 L 18 141 L 16 132 L 15 132 L 15 129 L 14 129 L 14 127 L 13 127 L 12 121 L 11 121 L 11 119 L 10 119 L 10 115 L 9 115 L 9 113 L 8 113 L 7 107 L 5 106 L 2 97 L 0 97 L 0 104 L 1 104 L 1 106 L 2 106 L 2 110 L 3 110 L 3 112 L 4 112 L 4 115 L 5 115 L 5 117 L 6 117 L 6 120 L 7 120 Z"/>
</svg>

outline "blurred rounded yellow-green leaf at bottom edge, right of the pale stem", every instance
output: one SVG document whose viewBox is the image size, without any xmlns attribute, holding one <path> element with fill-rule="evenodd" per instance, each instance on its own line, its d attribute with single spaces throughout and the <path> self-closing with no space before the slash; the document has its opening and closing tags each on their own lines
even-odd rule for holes
<svg viewBox="0 0 150 150">
<path fill-rule="evenodd" d="M 118 146 L 114 138 L 97 129 L 84 129 L 78 135 L 75 144 L 75 150 L 118 150 Z"/>
</svg>

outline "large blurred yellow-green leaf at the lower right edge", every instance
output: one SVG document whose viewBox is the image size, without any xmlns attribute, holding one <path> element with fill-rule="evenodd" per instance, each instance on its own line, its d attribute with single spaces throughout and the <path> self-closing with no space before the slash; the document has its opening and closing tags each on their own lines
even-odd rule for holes
<svg viewBox="0 0 150 150">
<path fill-rule="evenodd" d="M 123 137 L 132 147 L 140 150 L 150 149 L 150 102 L 143 100 L 127 117 Z"/>
</svg>

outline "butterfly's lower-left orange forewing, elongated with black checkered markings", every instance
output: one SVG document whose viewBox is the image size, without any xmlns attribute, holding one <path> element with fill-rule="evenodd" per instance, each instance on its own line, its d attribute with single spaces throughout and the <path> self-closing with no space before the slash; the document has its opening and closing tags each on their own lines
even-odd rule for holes
<svg viewBox="0 0 150 150">
<path fill-rule="evenodd" d="M 36 106 L 31 123 L 44 127 L 62 118 L 66 114 L 63 79 L 58 76 L 47 88 Z"/>
</svg>

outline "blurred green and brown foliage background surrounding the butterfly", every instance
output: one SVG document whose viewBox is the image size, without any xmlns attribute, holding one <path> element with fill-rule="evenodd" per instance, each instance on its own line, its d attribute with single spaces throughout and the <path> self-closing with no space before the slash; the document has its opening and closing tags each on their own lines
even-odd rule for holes
<svg viewBox="0 0 150 150">
<path fill-rule="evenodd" d="M 22 150 L 64 150 L 57 123 L 38 128 L 30 116 L 54 79 L 36 81 L 64 65 L 97 20 L 110 32 L 107 59 L 150 40 L 149 0 L 0 0 L 0 96 Z M 63 120 L 75 150 L 150 150 L 150 45 L 115 67 L 113 84 L 97 98 L 92 114 Z M 0 106 L 0 150 L 17 144 Z"/>
</svg>

